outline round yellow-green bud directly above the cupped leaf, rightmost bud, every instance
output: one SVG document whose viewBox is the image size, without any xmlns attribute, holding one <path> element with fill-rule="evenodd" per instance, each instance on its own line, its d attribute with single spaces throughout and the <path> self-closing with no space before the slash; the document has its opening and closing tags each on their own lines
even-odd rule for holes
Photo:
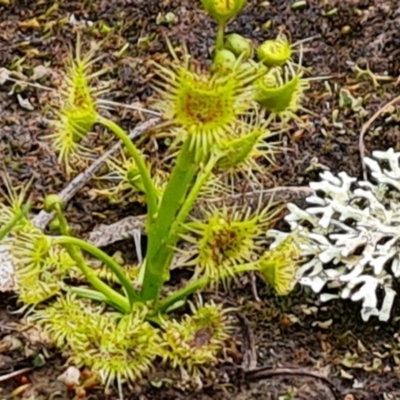
<svg viewBox="0 0 400 400">
<path fill-rule="evenodd" d="M 289 40 L 286 36 L 280 35 L 274 40 L 266 40 L 258 50 L 257 57 L 267 67 L 284 65 L 292 54 Z"/>
</svg>

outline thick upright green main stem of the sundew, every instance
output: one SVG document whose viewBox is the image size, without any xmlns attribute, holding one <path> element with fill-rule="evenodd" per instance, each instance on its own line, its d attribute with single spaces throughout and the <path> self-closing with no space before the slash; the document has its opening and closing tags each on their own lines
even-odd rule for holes
<svg viewBox="0 0 400 400">
<path fill-rule="evenodd" d="M 167 187 L 161 199 L 157 218 L 148 230 L 142 301 L 157 301 L 161 288 L 169 277 L 169 266 L 174 255 L 178 235 L 172 226 L 198 170 L 196 149 L 187 139 L 179 152 Z"/>
</svg>

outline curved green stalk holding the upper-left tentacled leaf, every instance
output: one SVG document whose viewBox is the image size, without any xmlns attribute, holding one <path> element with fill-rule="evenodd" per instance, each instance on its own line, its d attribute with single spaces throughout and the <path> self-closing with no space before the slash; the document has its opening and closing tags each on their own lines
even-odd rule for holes
<svg viewBox="0 0 400 400">
<path fill-rule="evenodd" d="M 144 162 L 143 157 L 137 147 L 133 144 L 128 134 L 119 125 L 100 115 L 97 116 L 97 121 L 118 136 L 118 138 L 122 141 L 126 149 L 129 151 L 130 155 L 134 159 L 145 188 L 149 225 L 157 214 L 157 193 L 154 188 L 149 169 L 147 168 L 146 163 Z"/>
</svg>

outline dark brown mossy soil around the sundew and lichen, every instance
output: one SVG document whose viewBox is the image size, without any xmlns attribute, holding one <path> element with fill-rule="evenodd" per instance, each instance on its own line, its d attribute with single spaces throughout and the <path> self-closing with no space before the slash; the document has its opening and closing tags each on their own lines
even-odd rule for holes
<svg viewBox="0 0 400 400">
<path fill-rule="evenodd" d="M 0 1 L 0 4 L 2 2 Z M 49 74 L 38 83 L 57 87 L 68 54 L 74 46 L 76 31 L 82 41 L 104 40 L 101 66 L 109 72 L 103 79 L 111 82 L 109 99 L 124 104 L 146 106 L 153 76 L 149 61 L 167 55 L 163 36 L 174 43 L 184 41 L 197 59 L 209 60 L 215 24 L 193 0 L 116 0 L 116 1 L 15 1 L 0 5 L 0 67 L 16 69 L 31 76 L 35 66 L 46 66 Z M 267 188 L 304 186 L 318 179 L 325 168 L 346 171 L 361 177 L 359 134 L 363 124 L 388 101 L 398 95 L 400 74 L 400 3 L 396 0 L 307 0 L 299 10 L 291 1 L 249 0 L 244 12 L 229 25 L 229 31 L 244 34 L 255 42 L 276 36 L 279 31 L 293 42 L 313 38 L 304 46 L 304 66 L 314 77 L 328 77 L 312 83 L 304 99 L 302 113 L 307 128 L 296 123 L 283 134 L 284 150 L 265 179 Z M 329 16 L 329 11 L 337 12 Z M 175 15 L 172 24 L 163 22 L 168 12 Z M 271 20 L 271 27 L 261 26 Z M 73 22 L 75 21 L 75 22 Z M 164 19 L 165 21 L 165 19 Z M 105 33 L 105 25 L 110 29 Z M 122 57 L 117 53 L 129 44 Z M 18 66 L 19 65 L 19 66 Z M 374 74 L 357 73 L 355 66 Z M 392 77 L 393 79 L 388 79 Z M 376 78 L 377 80 L 374 81 Z M 12 90 L 14 89 L 14 90 Z M 346 92 L 347 91 L 347 92 Z M 347 93 L 347 97 L 346 97 Z M 29 111 L 20 106 L 17 95 L 28 99 Z M 353 98 L 349 101 L 348 94 Z M 347 100 L 346 100 L 347 99 Z M 15 185 L 32 179 L 35 209 L 41 208 L 45 193 L 59 192 L 68 182 L 56 156 L 49 148 L 45 118 L 51 97 L 46 90 L 0 86 L 0 165 Z M 113 119 L 130 130 L 144 118 L 123 108 L 113 111 Z M 366 153 L 374 149 L 399 149 L 399 110 L 393 107 L 366 133 Z M 98 131 L 97 144 L 108 147 L 111 136 Z M 68 205 L 68 218 L 81 233 L 98 223 L 115 222 L 141 209 L 110 206 L 102 199 L 90 200 L 87 185 Z M 361 321 L 359 306 L 349 302 L 319 304 L 315 297 L 300 289 L 288 297 L 277 297 L 259 282 L 261 302 L 256 302 L 248 283 L 234 288 L 229 301 L 249 321 L 238 331 L 238 349 L 249 352 L 248 334 L 254 335 L 258 366 L 299 368 L 329 377 L 343 399 L 400 399 L 399 322 Z M 0 351 L 0 378 L 12 371 L 32 366 L 42 350 L 40 340 L 28 343 L 21 331 L 14 299 L 1 296 L 0 337 L 16 335 L 24 351 Z M 396 304 L 395 311 L 399 310 Z M 396 315 L 396 313 L 394 313 Z M 247 339 L 246 339 L 247 338 Z M 250 343 L 250 344 L 249 344 Z M 126 399 L 333 399 L 323 382 L 310 377 L 283 376 L 248 383 L 240 371 L 240 354 L 215 371 L 219 379 L 198 392 L 156 389 L 144 383 L 126 390 Z M 228 357 L 229 358 L 229 357 Z M 64 359 L 46 350 L 46 364 L 2 383 L 0 397 L 8 399 L 13 390 L 28 384 L 29 399 L 68 399 L 57 377 L 65 370 Z M 1 382 L 1 381 L 0 381 Z M 116 399 L 93 390 L 90 399 Z"/>
</svg>

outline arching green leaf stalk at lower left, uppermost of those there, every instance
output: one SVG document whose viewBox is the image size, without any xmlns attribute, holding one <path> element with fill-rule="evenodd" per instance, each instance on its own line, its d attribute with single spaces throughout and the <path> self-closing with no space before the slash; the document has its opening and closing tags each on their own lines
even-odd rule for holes
<svg viewBox="0 0 400 400">
<path fill-rule="evenodd" d="M 53 239 L 53 243 L 77 246 L 80 249 L 92 255 L 93 257 L 95 257 L 96 259 L 103 262 L 115 274 L 119 283 L 125 289 L 130 305 L 138 301 L 139 296 L 135 292 L 135 289 L 133 288 L 130 280 L 124 274 L 124 271 L 122 270 L 120 265 L 118 265 L 118 263 L 116 263 L 114 259 L 110 257 L 108 254 L 104 253 L 104 251 L 100 250 L 99 248 L 93 246 L 90 243 L 85 242 L 84 240 L 74 238 L 71 236 L 56 237 L 55 239 Z"/>
</svg>

